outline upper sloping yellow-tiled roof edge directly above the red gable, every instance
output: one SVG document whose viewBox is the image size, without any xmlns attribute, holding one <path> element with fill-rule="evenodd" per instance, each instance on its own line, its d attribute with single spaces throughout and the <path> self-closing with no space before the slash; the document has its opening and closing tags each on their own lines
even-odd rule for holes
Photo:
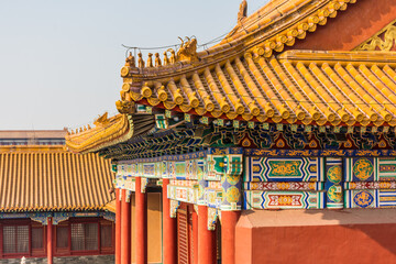
<svg viewBox="0 0 396 264">
<path fill-rule="evenodd" d="M 355 2 L 356 0 L 272 0 L 248 18 L 239 19 L 237 26 L 216 48 L 226 43 L 244 42 L 245 45 L 252 45 L 252 41 L 257 43 L 265 40 L 268 44 L 273 42 L 266 47 L 268 53 L 270 50 L 280 52 L 283 44 L 293 46 L 295 38 L 305 38 L 307 31 L 316 31 L 317 25 L 324 25 L 328 18 L 336 18 L 338 11 L 344 11 L 348 4 Z M 287 40 L 280 40 L 283 37 Z"/>
</svg>

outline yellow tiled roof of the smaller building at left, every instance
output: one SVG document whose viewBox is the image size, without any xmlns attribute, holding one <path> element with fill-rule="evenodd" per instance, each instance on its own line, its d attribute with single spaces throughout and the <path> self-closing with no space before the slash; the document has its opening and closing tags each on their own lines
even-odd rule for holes
<svg viewBox="0 0 396 264">
<path fill-rule="evenodd" d="M 0 146 L 0 211 L 103 210 L 114 175 L 97 154 Z"/>
</svg>

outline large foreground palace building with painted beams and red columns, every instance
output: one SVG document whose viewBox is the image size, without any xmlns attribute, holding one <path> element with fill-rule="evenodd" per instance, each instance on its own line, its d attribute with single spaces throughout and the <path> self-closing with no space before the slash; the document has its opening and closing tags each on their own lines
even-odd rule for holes
<svg viewBox="0 0 396 264">
<path fill-rule="evenodd" d="M 396 262 L 396 2 L 246 6 L 204 52 L 131 54 L 120 114 L 67 136 L 117 172 L 116 263 Z"/>
</svg>

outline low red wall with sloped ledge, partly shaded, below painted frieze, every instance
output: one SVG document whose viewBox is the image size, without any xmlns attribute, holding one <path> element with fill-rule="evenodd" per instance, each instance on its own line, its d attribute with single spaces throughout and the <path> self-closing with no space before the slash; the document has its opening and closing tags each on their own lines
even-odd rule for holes
<svg viewBox="0 0 396 264">
<path fill-rule="evenodd" d="M 251 210 L 237 263 L 396 263 L 396 209 Z"/>
</svg>

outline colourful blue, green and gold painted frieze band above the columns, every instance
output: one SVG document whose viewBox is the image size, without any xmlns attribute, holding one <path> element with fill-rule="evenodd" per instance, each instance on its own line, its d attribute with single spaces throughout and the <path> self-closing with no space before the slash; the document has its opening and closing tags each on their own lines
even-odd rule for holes
<svg viewBox="0 0 396 264">
<path fill-rule="evenodd" d="M 120 164 L 114 184 L 134 191 L 136 176 L 169 178 L 170 215 L 180 202 L 207 206 L 213 218 L 242 208 L 385 208 L 396 206 L 389 154 L 396 152 L 208 148 L 193 160 Z"/>
</svg>

